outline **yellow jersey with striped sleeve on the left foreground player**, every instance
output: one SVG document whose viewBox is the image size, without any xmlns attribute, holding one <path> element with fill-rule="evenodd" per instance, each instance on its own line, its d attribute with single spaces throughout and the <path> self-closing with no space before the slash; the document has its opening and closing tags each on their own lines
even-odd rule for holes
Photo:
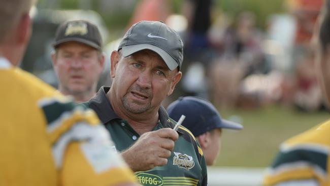
<svg viewBox="0 0 330 186">
<path fill-rule="evenodd" d="M 93 111 L 0 57 L 0 185 L 135 181 Z"/>
</svg>

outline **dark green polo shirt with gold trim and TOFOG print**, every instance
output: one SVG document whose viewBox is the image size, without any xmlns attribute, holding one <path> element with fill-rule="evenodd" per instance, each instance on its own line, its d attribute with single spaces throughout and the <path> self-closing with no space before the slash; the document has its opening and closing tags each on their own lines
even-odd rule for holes
<svg viewBox="0 0 330 186">
<path fill-rule="evenodd" d="M 112 109 L 106 97 L 110 87 L 103 86 L 89 102 L 82 103 L 93 109 L 109 131 L 117 151 L 133 145 L 140 135 L 121 119 Z M 161 106 L 158 111 L 159 121 L 153 131 L 162 128 L 174 128 L 176 121 L 171 119 Z M 168 164 L 148 171 L 136 172 L 136 179 L 141 185 L 207 185 L 207 169 L 203 151 L 189 130 L 178 129 L 179 139 L 175 142 Z M 148 156 L 148 154 L 146 154 Z"/>
</svg>

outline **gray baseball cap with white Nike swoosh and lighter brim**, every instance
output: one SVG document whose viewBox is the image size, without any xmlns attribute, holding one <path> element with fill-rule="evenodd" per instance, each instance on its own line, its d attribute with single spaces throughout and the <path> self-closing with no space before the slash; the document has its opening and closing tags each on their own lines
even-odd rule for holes
<svg viewBox="0 0 330 186">
<path fill-rule="evenodd" d="M 156 52 L 172 71 L 182 65 L 183 42 L 174 29 L 160 21 L 140 21 L 131 26 L 118 50 L 127 57 L 135 52 L 149 49 Z"/>
</svg>

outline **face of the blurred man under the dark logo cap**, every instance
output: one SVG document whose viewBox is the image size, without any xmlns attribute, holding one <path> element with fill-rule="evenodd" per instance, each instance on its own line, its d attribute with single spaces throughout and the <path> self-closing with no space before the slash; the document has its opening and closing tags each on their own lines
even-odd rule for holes
<svg viewBox="0 0 330 186">
<path fill-rule="evenodd" d="M 95 91 L 104 58 L 98 51 L 78 42 L 61 44 L 52 55 L 58 89 L 69 95 Z"/>
</svg>

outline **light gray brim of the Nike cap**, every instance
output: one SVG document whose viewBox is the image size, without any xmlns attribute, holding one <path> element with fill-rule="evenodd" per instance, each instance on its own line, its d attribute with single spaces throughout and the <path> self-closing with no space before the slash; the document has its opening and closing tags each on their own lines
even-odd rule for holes
<svg viewBox="0 0 330 186">
<path fill-rule="evenodd" d="M 135 52 L 141 51 L 141 50 L 145 50 L 145 49 L 149 49 L 152 50 L 154 52 L 156 52 L 166 63 L 166 65 L 168 66 L 168 68 L 173 71 L 174 69 L 176 69 L 179 64 L 177 63 L 176 60 L 173 59 L 173 57 L 168 54 L 166 51 L 164 51 L 163 49 L 156 47 L 154 45 L 150 45 L 150 44 L 138 44 L 138 45 L 128 45 L 128 46 L 124 46 L 121 48 L 122 50 L 122 55 L 124 57 L 127 57 Z"/>
</svg>

